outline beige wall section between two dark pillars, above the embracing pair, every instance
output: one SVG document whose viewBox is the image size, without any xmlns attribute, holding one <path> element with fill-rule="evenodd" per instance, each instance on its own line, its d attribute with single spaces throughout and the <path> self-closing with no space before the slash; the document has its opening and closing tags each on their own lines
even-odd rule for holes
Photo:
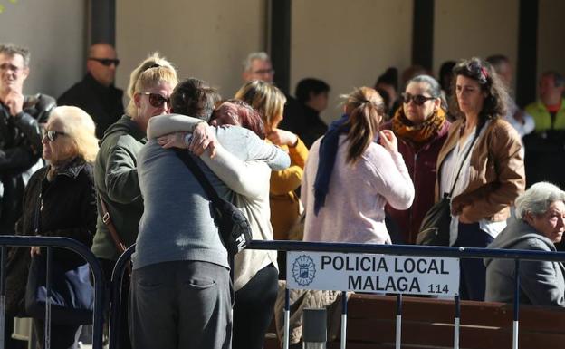
<svg viewBox="0 0 565 349">
<path fill-rule="evenodd" d="M 203 79 L 232 97 L 242 84 L 245 56 L 266 50 L 263 0 L 116 3 L 117 85 L 124 89 L 133 68 L 158 51 L 177 65 L 179 77 Z"/>
</svg>

